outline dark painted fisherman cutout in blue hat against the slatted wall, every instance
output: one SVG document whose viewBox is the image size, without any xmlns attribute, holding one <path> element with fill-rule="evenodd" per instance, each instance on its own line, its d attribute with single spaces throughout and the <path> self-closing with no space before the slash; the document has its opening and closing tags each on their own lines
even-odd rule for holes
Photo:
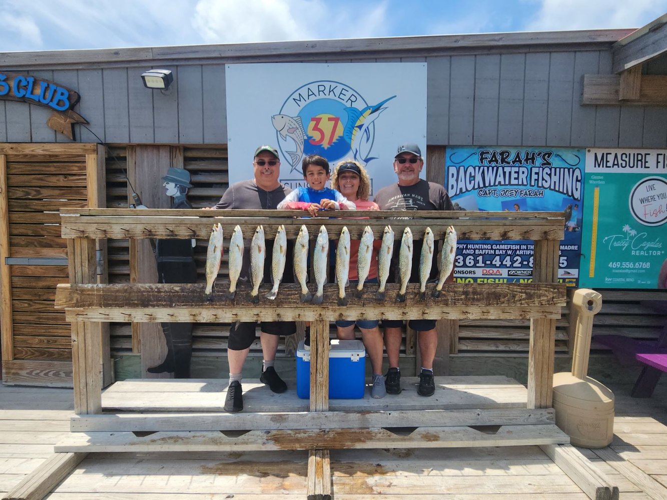
<svg viewBox="0 0 667 500">
<path fill-rule="evenodd" d="M 190 173 L 185 169 L 169 167 L 162 177 L 163 187 L 171 196 L 171 208 L 191 209 L 185 195 L 192 187 Z M 155 241 L 157 279 L 160 283 L 196 283 L 197 265 L 191 239 L 158 239 Z M 157 366 L 147 369 L 149 373 L 169 372 L 176 379 L 190 377 L 192 357 L 192 323 L 161 323 L 167 343 L 167 356 Z"/>
</svg>

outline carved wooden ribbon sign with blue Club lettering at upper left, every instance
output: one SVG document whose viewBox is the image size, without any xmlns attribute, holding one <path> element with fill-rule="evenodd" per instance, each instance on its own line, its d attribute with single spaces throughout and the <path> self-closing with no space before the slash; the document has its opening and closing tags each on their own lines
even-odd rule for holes
<svg viewBox="0 0 667 500">
<path fill-rule="evenodd" d="M 72 110 L 81 99 L 79 94 L 53 81 L 0 71 L 0 99 L 52 109 L 53 114 L 47 119 L 47 125 L 70 139 L 74 139 L 74 123 L 88 123 Z"/>
</svg>

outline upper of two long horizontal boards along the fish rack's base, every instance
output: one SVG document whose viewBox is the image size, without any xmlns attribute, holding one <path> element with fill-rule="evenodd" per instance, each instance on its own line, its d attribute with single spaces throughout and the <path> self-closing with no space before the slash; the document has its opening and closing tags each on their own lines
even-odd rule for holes
<svg viewBox="0 0 667 500">
<path fill-rule="evenodd" d="M 486 408 L 373 411 L 286 411 L 267 413 L 117 413 L 77 415 L 72 432 L 94 431 L 265 431 L 363 429 L 366 427 L 457 427 L 546 425 L 554 409 Z"/>
</svg>

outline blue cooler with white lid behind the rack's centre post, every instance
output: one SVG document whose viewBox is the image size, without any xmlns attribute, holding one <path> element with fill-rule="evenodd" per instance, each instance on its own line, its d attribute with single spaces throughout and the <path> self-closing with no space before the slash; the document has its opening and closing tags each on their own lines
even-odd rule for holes
<svg viewBox="0 0 667 500">
<path fill-rule="evenodd" d="M 329 345 L 329 399 L 364 397 L 366 350 L 360 340 L 332 340 Z M 303 341 L 296 351 L 296 393 L 310 398 L 310 350 Z"/>
</svg>

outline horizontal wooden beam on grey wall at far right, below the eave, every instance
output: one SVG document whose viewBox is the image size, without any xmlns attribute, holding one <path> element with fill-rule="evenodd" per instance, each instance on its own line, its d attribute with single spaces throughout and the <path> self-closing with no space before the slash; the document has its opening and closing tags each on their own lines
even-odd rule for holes
<svg viewBox="0 0 667 500">
<path fill-rule="evenodd" d="M 640 92 L 634 101 L 620 100 L 620 75 L 584 75 L 582 105 L 667 106 L 667 75 L 641 75 Z"/>
</svg>

